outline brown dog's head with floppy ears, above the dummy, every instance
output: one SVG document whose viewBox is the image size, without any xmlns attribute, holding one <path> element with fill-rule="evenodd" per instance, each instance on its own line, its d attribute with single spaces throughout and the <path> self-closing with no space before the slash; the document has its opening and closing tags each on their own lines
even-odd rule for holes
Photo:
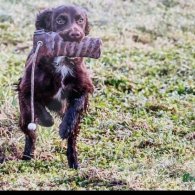
<svg viewBox="0 0 195 195">
<path fill-rule="evenodd" d="M 80 41 L 89 34 L 86 12 L 76 6 L 46 9 L 37 15 L 36 29 L 59 33 L 64 41 Z"/>
</svg>

